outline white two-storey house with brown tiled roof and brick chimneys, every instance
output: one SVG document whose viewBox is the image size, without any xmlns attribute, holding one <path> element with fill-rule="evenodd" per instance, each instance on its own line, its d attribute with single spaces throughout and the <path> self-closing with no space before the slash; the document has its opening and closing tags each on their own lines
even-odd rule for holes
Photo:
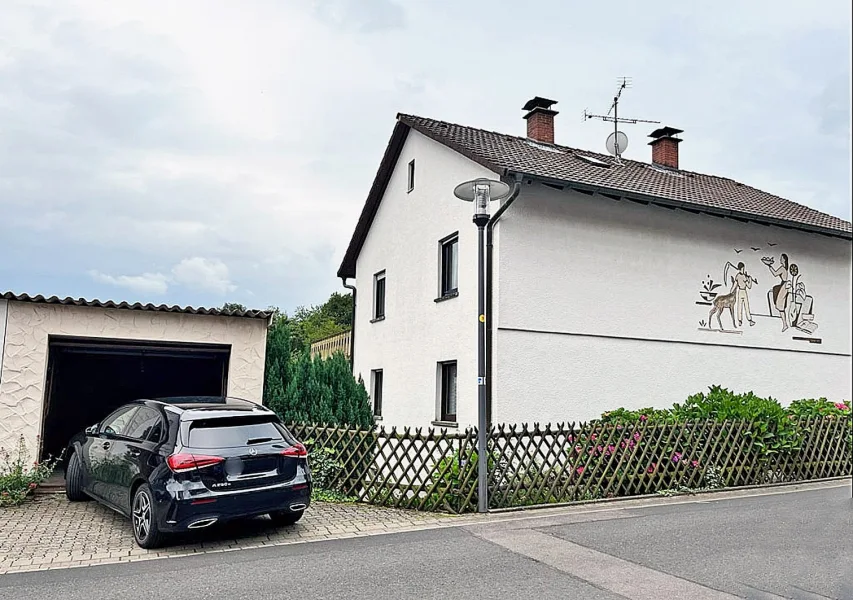
<svg viewBox="0 0 853 600">
<path fill-rule="evenodd" d="M 521 182 L 494 225 L 491 421 L 587 420 L 719 384 L 851 397 L 851 224 L 681 169 L 400 114 L 338 271 L 357 280 L 353 368 L 383 424 L 477 420 L 477 231 L 454 187 Z M 497 204 L 497 203 L 493 203 Z M 497 207 L 492 207 L 494 214 Z"/>
</svg>

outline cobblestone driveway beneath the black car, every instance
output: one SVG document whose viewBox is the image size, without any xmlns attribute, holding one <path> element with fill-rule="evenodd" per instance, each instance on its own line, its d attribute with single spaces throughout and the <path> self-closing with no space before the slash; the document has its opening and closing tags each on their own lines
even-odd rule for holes
<svg viewBox="0 0 853 600">
<path fill-rule="evenodd" d="M 96 502 L 72 503 L 65 494 L 43 494 L 0 510 L 0 574 L 357 537 L 433 527 L 456 518 L 317 502 L 291 527 L 275 528 L 264 517 L 175 536 L 165 548 L 143 550 L 121 515 Z"/>
</svg>

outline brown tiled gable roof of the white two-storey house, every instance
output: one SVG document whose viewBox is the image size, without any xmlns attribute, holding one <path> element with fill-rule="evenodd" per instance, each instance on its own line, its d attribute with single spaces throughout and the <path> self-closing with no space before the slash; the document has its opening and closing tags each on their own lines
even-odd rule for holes
<svg viewBox="0 0 853 600">
<path fill-rule="evenodd" d="M 675 171 L 624 158 L 617 164 L 610 155 L 540 144 L 523 137 L 399 114 L 397 126 L 338 270 L 339 277 L 355 277 L 358 253 L 409 129 L 444 144 L 499 175 L 517 173 L 579 189 L 617 194 L 687 210 L 845 239 L 853 237 L 851 224 L 844 219 L 725 177 Z"/>
</svg>

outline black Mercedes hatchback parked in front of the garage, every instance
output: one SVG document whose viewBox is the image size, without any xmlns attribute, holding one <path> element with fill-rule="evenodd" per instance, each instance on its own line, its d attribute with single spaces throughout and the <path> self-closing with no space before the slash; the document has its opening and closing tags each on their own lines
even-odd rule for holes
<svg viewBox="0 0 853 600">
<path fill-rule="evenodd" d="M 66 456 L 68 499 L 92 497 L 130 517 L 143 548 L 262 514 L 290 525 L 311 499 L 305 446 L 274 412 L 235 398 L 125 404 L 74 436 Z"/>
</svg>

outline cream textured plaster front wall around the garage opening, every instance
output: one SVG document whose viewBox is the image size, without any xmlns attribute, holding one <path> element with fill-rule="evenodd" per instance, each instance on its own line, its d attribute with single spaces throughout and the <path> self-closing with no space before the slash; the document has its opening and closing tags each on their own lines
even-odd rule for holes
<svg viewBox="0 0 853 600">
<path fill-rule="evenodd" d="M 13 301 L 7 312 L 0 370 L 0 447 L 11 449 L 23 434 L 35 455 L 51 335 L 228 344 L 228 395 L 255 402 L 263 398 L 264 319 Z"/>
</svg>

